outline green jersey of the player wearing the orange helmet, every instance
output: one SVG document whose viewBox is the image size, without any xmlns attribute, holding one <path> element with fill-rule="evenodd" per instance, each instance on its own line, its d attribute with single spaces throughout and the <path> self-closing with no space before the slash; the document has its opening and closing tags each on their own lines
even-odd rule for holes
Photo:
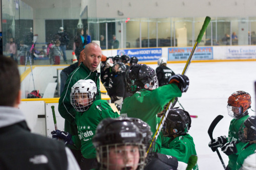
<svg viewBox="0 0 256 170">
<path fill-rule="evenodd" d="M 240 151 L 242 146 L 245 144 L 239 141 L 238 132 L 241 124 L 249 117 L 249 115 L 243 116 L 239 119 L 233 118 L 230 122 L 229 130 L 228 130 L 228 142 L 238 141 L 236 143 L 237 150 Z M 228 156 L 228 168 L 229 170 L 235 170 L 237 165 L 238 154 L 231 154 Z"/>
</svg>

